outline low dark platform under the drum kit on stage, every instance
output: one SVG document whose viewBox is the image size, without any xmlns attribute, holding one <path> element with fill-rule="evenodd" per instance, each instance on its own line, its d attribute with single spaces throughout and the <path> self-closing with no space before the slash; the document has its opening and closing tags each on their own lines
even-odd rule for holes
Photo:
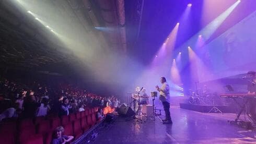
<svg viewBox="0 0 256 144">
<path fill-rule="evenodd" d="M 180 103 L 181 109 L 202 112 L 202 113 L 235 113 L 234 107 L 228 105 L 199 105 L 190 103 Z"/>
</svg>

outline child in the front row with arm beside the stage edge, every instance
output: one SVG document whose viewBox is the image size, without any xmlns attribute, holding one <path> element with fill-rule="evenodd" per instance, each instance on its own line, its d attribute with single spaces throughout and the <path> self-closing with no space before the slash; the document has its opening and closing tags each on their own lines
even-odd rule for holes
<svg viewBox="0 0 256 144">
<path fill-rule="evenodd" d="M 64 144 L 74 139 L 73 136 L 62 135 L 63 132 L 64 132 L 64 128 L 62 126 L 59 126 L 55 129 L 55 137 L 52 140 L 52 144 L 61 144 L 61 143 Z"/>
</svg>

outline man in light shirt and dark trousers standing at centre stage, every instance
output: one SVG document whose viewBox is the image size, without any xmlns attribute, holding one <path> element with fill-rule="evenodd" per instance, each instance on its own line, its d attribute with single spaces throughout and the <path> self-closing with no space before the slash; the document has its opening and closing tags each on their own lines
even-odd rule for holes
<svg viewBox="0 0 256 144">
<path fill-rule="evenodd" d="M 166 119 L 162 120 L 163 124 L 172 124 L 171 116 L 170 116 L 170 89 L 169 85 L 166 82 L 165 77 L 160 78 L 160 82 L 162 83 L 162 87 L 159 88 L 156 86 L 157 91 L 160 92 L 159 100 L 162 102 L 162 105 L 164 105 L 165 110 L 165 117 Z"/>
</svg>

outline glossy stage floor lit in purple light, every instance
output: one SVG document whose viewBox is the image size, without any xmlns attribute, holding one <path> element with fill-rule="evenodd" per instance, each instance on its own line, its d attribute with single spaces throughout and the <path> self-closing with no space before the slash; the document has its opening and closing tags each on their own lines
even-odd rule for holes
<svg viewBox="0 0 256 144">
<path fill-rule="evenodd" d="M 157 117 L 145 123 L 117 117 L 107 130 L 98 131 L 92 143 L 256 143 L 255 130 L 227 123 L 235 116 L 171 107 L 172 125 L 162 124 Z"/>
</svg>

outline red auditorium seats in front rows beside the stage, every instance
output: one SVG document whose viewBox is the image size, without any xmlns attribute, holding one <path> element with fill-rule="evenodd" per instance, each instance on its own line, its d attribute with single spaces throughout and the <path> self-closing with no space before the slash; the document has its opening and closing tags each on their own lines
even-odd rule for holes
<svg viewBox="0 0 256 144">
<path fill-rule="evenodd" d="M 34 121 L 32 119 L 24 119 L 21 122 L 2 123 L 0 126 L 0 139 L 4 143 L 50 143 L 54 129 L 58 126 L 64 127 L 65 135 L 72 135 L 78 138 L 97 123 L 97 111 L 98 107 L 94 107 L 69 116 L 62 116 L 61 118 L 36 117 Z M 110 107 L 103 109 L 104 114 L 112 111 Z"/>
</svg>

